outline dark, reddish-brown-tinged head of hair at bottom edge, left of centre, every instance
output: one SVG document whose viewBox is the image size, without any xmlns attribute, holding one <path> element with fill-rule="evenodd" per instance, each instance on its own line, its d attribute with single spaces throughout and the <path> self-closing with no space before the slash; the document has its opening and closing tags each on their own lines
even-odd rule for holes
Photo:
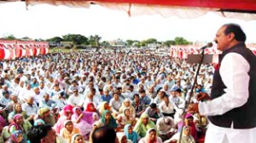
<svg viewBox="0 0 256 143">
<path fill-rule="evenodd" d="M 116 133 L 113 128 L 101 127 L 96 129 L 92 134 L 93 143 L 114 143 L 116 139 Z"/>
</svg>

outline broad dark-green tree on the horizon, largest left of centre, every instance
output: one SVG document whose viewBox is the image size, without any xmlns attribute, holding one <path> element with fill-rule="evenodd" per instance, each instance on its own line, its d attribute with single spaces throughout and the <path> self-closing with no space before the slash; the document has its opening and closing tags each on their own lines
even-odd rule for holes
<svg viewBox="0 0 256 143">
<path fill-rule="evenodd" d="M 63 37 L 63 41 L 73 42 L 75 44 L 88 43 L 88 38 L 80 34 L 67 34 L 62 37 Z"/>
</svg>

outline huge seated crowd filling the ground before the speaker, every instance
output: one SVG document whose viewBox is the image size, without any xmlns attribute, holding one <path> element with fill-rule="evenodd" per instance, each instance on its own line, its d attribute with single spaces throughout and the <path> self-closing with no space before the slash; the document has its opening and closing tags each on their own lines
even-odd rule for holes
<svg viewBox="0 0 256 143">
<path fill-rule="evenodd" d="M 0 143 L 101 142 L 102 133 L 120 143 L 195 143 L 207 129 L 206 117 L 183 109 L 190 94 L 197 102 L 210 92 L 212 65 L 192 89 L 196 65 L 170 56 L 73 52 L 0 62 Z"/>
</svg>

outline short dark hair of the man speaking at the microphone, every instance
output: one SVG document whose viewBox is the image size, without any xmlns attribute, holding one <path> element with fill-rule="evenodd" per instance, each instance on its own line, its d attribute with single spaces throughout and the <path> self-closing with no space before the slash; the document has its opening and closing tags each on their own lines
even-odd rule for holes
<svg viewBox="0 0 256 143">
<path fill-rule="evenodd" d="M 241 26 L 238 26 L 234 23 L 225 24 L 224 26 L 226 26 L 226 29 L 224 30 L 225 35 L 228 35 L 232 32 L 235 34 L 235 39 L 237 41 L 245 42 L 247 40 L 247 36 L 244 31 L 242 31 Z"/>
</svg>

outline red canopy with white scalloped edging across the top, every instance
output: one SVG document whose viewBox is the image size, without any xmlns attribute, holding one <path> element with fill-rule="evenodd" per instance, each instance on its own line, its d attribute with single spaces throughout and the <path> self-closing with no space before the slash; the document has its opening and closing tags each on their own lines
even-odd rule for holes
<svg viewBox="0 0 256 143">
<path fill-rule="evenodd" d="M 197 18 L 211 11 L 227 18 L 256 20 L 254 0 L 26 0 L 26 5 L 41 3 L 83 8 L 90 8 L 93 3 L 123 10 L 130 16 L 160 14 L 164 17 Z"/>
</svg>

